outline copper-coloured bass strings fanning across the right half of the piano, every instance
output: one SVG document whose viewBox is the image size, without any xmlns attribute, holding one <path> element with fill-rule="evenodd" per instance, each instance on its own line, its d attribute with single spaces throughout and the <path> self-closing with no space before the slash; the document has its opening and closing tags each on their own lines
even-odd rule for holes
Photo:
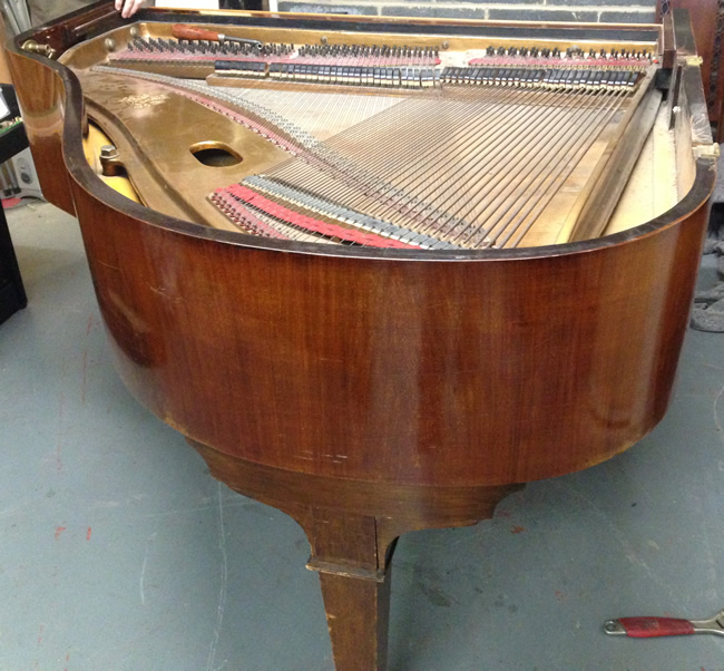
<svg viewBox="0 0 724 671">
<path fill-rule="evenodd" d="M 408 99 L 325 143 L 390 193 L 351 188 L 296 161 L 268 175 L 457 246 L 516 246 L 625 97 L 502 88 Z M 428 212 L 410 207 L 419 202 Z"/>
</svg>

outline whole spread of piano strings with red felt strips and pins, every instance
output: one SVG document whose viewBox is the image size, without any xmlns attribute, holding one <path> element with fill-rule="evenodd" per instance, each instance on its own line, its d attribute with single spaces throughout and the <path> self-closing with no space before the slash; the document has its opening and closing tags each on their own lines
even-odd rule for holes
<svg viewBox="0 0 724 671">
<path fill-rule="evenodd" d="M 164 48 L 166 56 L 178 51 Z M 200 54 L 205 62 L 219 52 L 218 46 L 183 50 L 197 59 Z M 232 66 L 218 68 L 226 77 L 223 86 L 218 79 L 211 85 L 136 70 L 144 65 L 138 46 L 114 57 L 112 67 L 92 70 L 151 80 L 227 116 L 238 110 L 237 123 L 292 155 L 265 174 L 221 185 L 209 195 L 243 231 L 363 246 L 525 246 L 536 226 L 551 227 L 556 239 L 573 204 L 569 182 L 585 183 L 593 174 L 625 109 L 634 105 L 634 91 L 650 78 L 640 62 L 601 68 L 599 57 L 594 67 L 542 69 L 536 54 L 529 68 L 417 68 L 420 90 L 413 93 L 390 91 L 390 81 L 404 88 L 413 68 L 350 65 L 305 66 L 305 80 L 320 86 L 300 85 L 287 67 L 277 69 L 272 88 L 250 87 L 250 77 L 274 75 L 274 55 L 254 60 L 248 47 L 236 50 L 243 65 L 224 61 Z M 290 50 L 278 49 L 284 57 Z M 392 55 L 407 62 L 404 51 Z M 163 70 L 157 47 L 148 56 Z M 319 55 L 304 56 L 314 62 Z M 346 54 L 348 62 L 352 56 Z M 368 50 L 364 57 L 378 55 Z M 432 50 L 412 57 L 425 66 L 439 62 Z M 491 62 L 499 60 L 491 55 Z M 324 84 L 345 76 L 363 80 L 365 69 L 374 70 L 376 90 L 325 90 Z M 425 84 L 428 70 L 433 76 Z"/>
</svg>

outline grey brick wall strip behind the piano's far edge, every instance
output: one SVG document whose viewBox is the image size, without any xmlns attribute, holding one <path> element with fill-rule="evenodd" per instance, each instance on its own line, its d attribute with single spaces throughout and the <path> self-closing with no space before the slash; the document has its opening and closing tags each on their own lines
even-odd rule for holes
<svg viewBox="0 0 724 671">
<path fill-rule="evenodd" d="M 278 0 L 282 11 L 529 21 L 653 22 L 656 0 Z"/>
</svg>

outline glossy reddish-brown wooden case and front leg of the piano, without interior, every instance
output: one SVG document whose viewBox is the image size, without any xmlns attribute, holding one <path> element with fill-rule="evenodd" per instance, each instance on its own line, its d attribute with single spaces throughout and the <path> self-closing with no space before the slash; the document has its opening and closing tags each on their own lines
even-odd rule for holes
<svg viewBox="0 0 724 671">
<path fill-rule="evenodd" d="M 215 477 L 304 527 L 337 669 L 383 669 L 400 534 L 488 518 L 526 482 L 598 464 L 666 412 L 715 179 L 689 32 L 677 25 L 672 51 L 647 27 L 669 82 L 672 207 L 564 244 L 410 250 L 250 235 L 124 197 L 84 155 L 96 108 L 58 58 L 88 43 L 101 62 L 105 40 L 173 23 L 453 49 L 479 36 L 600 45 L 640 27 L 170 10 L 128 23 L 110 7 L 9 49 L 43 193 L 78 216 L 126 386 Z"/>
</svg>

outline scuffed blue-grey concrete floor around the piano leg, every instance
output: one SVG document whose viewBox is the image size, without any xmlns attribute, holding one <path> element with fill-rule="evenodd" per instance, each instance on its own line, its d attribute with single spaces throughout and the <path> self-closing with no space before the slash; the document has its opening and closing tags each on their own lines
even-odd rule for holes
<svg viewBox="0 0 724 671">
<path fill-rule="evenodd" d="M 8 218 L 30 302 L 0 325 L 0 670 L 332 669 L 301 528 L 126 392 L 75 220 Z M 724 669 L 724 638 L 601 630 L 724 607 L 723 353 L 688 332 L 671 411 L 625 455 L 403 536 L 391 669 Z"/>
</svg>

